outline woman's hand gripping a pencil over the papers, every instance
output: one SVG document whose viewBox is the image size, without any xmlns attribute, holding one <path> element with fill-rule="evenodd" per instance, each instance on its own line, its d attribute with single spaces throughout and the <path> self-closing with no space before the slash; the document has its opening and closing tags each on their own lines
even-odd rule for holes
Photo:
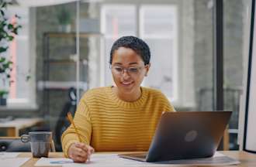
<svg viewBox="0 0 256 167">
<path fill-rule="evenodd" d="M 69 158 L 72 158 L 74 162 L 86 162 L 90 159 L 90 156 L 94 152 L 94 148 L 90 145 L 78 142 L 72 144 L 67 151 Z"/>
</svg>

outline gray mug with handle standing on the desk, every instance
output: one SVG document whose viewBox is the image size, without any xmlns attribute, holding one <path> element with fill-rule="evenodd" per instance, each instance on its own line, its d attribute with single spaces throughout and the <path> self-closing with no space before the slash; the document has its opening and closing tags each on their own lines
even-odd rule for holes
<svg viewBox="0 0 256 167">
<path fill-rule="evenodd" d="M 48 157 L 53 140 L 51 131 L 31 131 L 20 139 L 22 142 L 30 142 L 34 158 Z"/>
</svg>

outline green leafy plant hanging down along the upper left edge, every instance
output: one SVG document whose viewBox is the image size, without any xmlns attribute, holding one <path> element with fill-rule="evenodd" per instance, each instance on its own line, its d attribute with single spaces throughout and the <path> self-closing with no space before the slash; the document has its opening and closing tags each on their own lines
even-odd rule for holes
<svg viewBox="0 0 256 167">
<path fill-rule="evenodd" d="M 4 54 L 9 49 L 9 42 L 18 34 L 21 28 L 17 22 L 12 22 L 7 15 L 7 6 L 11 2 L 0 0 L 0 105 L 6 104 L 6 98 L 9 93 L 10 73 L 12 71 L 12 61 L 9 56 Z M 14 15 L 16 19 L 20 19 L 18 15 Z"/>
</svg>

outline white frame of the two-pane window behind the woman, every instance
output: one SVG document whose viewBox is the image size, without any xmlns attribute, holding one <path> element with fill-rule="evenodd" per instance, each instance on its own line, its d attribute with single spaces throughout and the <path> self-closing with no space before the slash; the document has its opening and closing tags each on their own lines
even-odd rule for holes
<svg viewBox="0 0 256 167">
<path fill-rule="evenodd" d="M 147 7 L 147 6 L 159 6 L 159 7 L 162 7 L 162 6 L 166 6 L 166 5 L 168 5 L 168 6 L 171 6 L 172 8 L 175 8 L 175 10 L 176 10 L 176 25 L 175 25 L 175 34 L 174 34 L 174 37 L 173 37 L 173 39 L 176 39 L 176 41 L 175 41 L 175 44 L 174 44 L 174 46 L 175 46 L 175 55 L 176 56 L 174 56 L 174 60 L 175 60 L 175 62 L 176 63 L 174 63 L 174 76 L 173 76 L 173 78 L 175 78 L 174 79 L 174 87 L 175 87 L 175 89 L 173 90 L 174 91 L 174 97 L 168 97 L 168 100 L 169 101 L 171 101 L 171 103 L 172 104 L 174 104 L 174 105 L 176 105 L 176 106 L 186 106 L 186 104 L 184 104 L 184 102 L 185 101 L 182 101 L 182 95 L 183 95 L 183 93 L 182 93 L 182 87 L 183 87 L 183 85 L 181 85 L 181 84 L 178 84 L 179 82 L 181 82 L 181 80 L 183 79 L 182 77 L 180 77 L 180 74 L 182 74 L 182 73 L 184 73 L 183 71 L 181 72 L 181 71 L 179 71 L 179 70 L 182 70 L 182 68 L 181 67 L 179 67 L 178 66 L 178 64 L 181 62 L 181 60 L 178 58 L 178 53 L 179 53 L 179 43 L 180 43 L 180 41 L 178 40 L 178 37 L 179 37 L 179 35 L 180 35 L 180 32 L 178 31 L 178 27 L 180 26 L 179 25 L 179 22 L 178 22 L 178 17 L 179 17 L 179 15 L 180 15 L 180 13 L 179 13 L 179 4 L 177 4 L 177 3 L 174 3 L 174 2 L 168 2 L 168 3 L 166 3 L 166 4 L 164 4 L 163 5 L 163 3 L 161 3 L 161 2 L 158 2 L 157 4 L 156 3 L 150 3 L 150 2 L 147 2 L 147 3 L 139 3 L 139 2 L 134 2 L 134 3 L 129 3 L 129 4 L 127 4 L 126 2 L 123 2 L 123 3 L 115 3 L 115 2 L 106 2 L 106 3 L 102 3 L 102 5 L 101 5 L 101 7 L 100 7 L 100 26 L 101 26 L 101 32 L 102 32 L 102 34 L 104 35 L 104 39 L 106 39 L 106 36 L 105 36 L 105 34 L 106 34 L 106 29 L 105 29 L 105 26 L 106 26 L 106 21 L 104 20 L 104 14 L 106 13 L 105 11 L 104 11 L 104 9 L 106 9 L 106 6 L 107 7 L 109 7 L 109 6 L 111 6 L 111 7 L 118 7 L 118 6 L 121 6 L 121 5 L 133 5 L 133 6 L 135 6 L 136 7 L 136 16 L 137 16 L 137 20 L 136 20 L 136 22 L 137 22 L 137 31 L 135 32 L 136 34 L 137 34 L 137 36 L 140 36 L 140 38 L 142 37 L 142 39 L 144 39 L 143 38 L 143 36 L 141 36 L 141 34 L 142 34 L 142 29 L 141 29 L 141 27 L 142 27 L 142 22 L 140 22 L 140 20 L 142 19 L 141 17 L 141 9 L 145 6 L 145 7 Z M 163 36 L 151 36 L 151 37 L 163 37 Z M 166 38 L 166 36 L 164 36 L 164 38 Z M 161 39 L 163 39 L 163 38 L 161 38 Z M 105 49 L 105 52 L 106 52 L 106 49 Z M 102 58 L 101 58 L 101 60 L 102 60 L 102 62 L 101 62 L 101 64 L 103 65 L 103 66 L 105 66 L 104 68 L 102 68 L 102 71 L 101 71 L 101 73 L 106 73 L 104 70 L 106 70 L 106 66 L 108 66 L 109 64 L 106 64 L 105 62 L 106 62 L 106 59 L 107 59 L 107 56 L 106 55 L 108 55 L 108 53 L 102 53 Z M 181 82 L 182 83 L 182 82 Z M 101 82 L 101 84 L 100 84 L 101 86 L 106 86 L 106 76 L 104 76 L 104 79 L 102 80 L 102 82 Z M 144 85 L 144 83 L 142 83 L 142 85 Z M 179 94 L 180 93 L 180 94 Z M 189 107 L 190 106 L 194 106 L 195 105 L 195 103 L 194 102 L 192 102 L 192 104 L 189 104 Z"/>
</svg>

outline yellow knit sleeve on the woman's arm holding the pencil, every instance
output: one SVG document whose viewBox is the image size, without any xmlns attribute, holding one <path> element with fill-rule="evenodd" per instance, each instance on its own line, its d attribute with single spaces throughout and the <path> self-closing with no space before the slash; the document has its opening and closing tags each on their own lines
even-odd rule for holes
<svg viewBox="0 0 256 167">
<path fill-rule="evenodd" d="M 74 125 L 76 126 L 76 128 L 78 128 L 78 133 L 81 137 L 81 141 L 86 145 L 89 145 L 92 136 L 92 123 L 88 105 L 83 98 L 79 102 L 77 111 L 74 114 Z M 68 157 L 68 148 L 74 142 L 79 142 L 79 139 L 78 135 L 74 131 L 74 127 L 70 125 L 61 136 L 61 145 L 65 157 Z"/>
</svg>

